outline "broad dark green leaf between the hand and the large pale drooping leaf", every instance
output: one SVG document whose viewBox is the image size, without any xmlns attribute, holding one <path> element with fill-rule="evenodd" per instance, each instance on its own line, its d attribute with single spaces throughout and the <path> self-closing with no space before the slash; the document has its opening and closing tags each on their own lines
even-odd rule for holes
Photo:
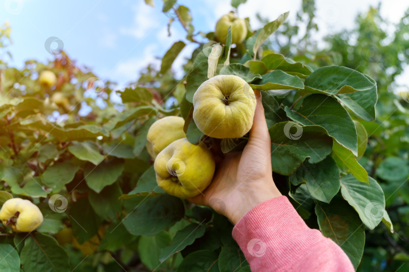
<svg viewBox="0 0 409 272">
<path fill-rule="evenodd" d="M 316 164 L 303 162 L 289 179 L 294 185 L 304 181 L 311 196 L 327 203 L 337 194 L 340 187 L 340 172 L 330 156 Z"/>
</svg>

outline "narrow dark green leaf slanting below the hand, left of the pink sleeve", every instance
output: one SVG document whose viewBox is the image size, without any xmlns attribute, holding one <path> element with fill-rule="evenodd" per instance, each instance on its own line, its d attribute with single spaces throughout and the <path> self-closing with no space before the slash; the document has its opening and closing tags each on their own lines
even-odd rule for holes
<svg viewBox="0 0 409 272">
<path fill-rule="evenodd" d="M 172 244 L 163 248 L 159 255 L 159 260 L 164 261 L 173 254 L 178 253 L 186 246 L 191 245 L 194 240 L 202 237 L 205 234 L 205 224 L 190 224 L 182 230 L 178 231 L 172 239 Z"/>
</svg>

